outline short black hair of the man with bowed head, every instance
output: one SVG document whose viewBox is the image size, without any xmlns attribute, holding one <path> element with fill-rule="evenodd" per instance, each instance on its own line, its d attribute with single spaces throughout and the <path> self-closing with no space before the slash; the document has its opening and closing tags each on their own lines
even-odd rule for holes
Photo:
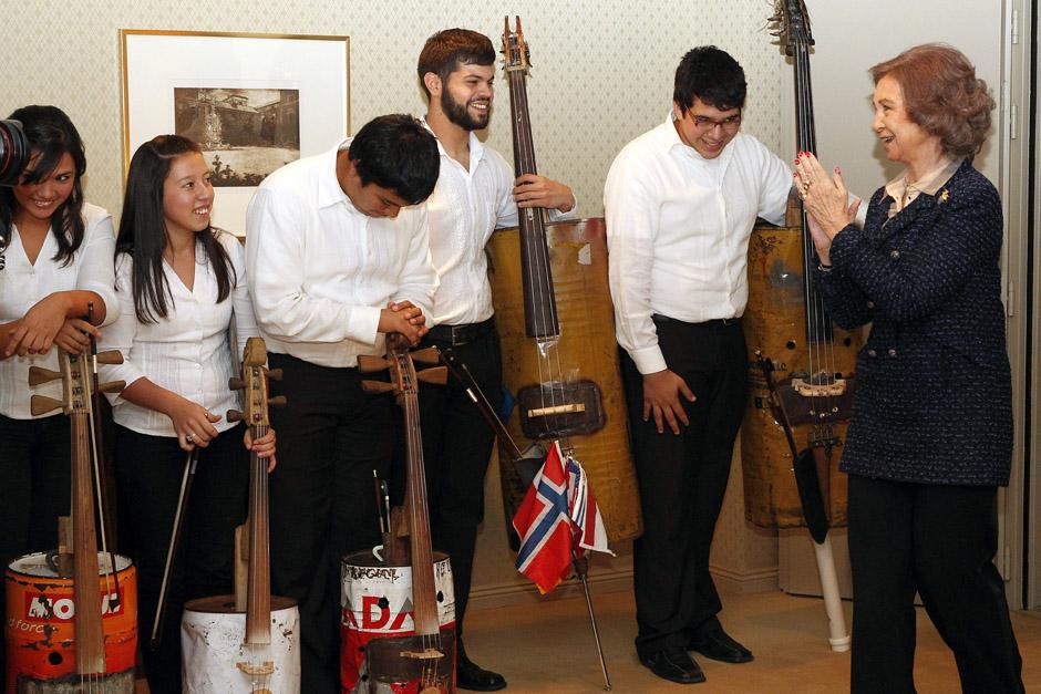
<svg viewBox="0 0 1041 694">
<path fill-rule="evenodd" d="M 411 205 L 430 197 L 441 170 L 433 133 L 403 113 L 365 123 L 351 141 L 349 155 L 361 185 L 389 188 Z"/>
</svg>

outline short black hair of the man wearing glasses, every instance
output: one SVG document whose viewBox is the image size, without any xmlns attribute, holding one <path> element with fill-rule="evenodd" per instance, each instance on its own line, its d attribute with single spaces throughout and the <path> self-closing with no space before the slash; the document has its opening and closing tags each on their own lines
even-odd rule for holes
<svg viewBox="0 0 1041 694">
<path fill-rule="evenodd" d="M 689 51 L 676 69 L 672 100 L 683 113 L 694 104 L 694 99 L 720 111 L 741 108 L 746 93 L 744 70 L 730 53 L 714 45 Z"/>
</svg>

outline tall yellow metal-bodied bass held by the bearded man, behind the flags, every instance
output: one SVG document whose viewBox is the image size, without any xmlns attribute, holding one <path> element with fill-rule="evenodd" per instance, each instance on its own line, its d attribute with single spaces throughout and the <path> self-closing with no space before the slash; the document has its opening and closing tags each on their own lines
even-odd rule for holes
<svg viewBox="0 0 1041 694">
<path fill-rule="evenodd" d="M 530 62 L 519 18 L 516 32 L 506 21 L 503 54 L 515 173 L 535 174 L 525 85 Z M 522 209 L 519 228 L 494 234 L 488 252 L 503 377 L 517 401 L 507 428 L 524 458 L 517 466 L 506 464 L 516 456 L 501 442 L 507 526 L 548 444 L 559 439 L 566 455 L 583 462 L 610 540 L 638 537 L 640 499 L 629 454 L 604 219 L 546 224 L 542 209 Z M 525 463 L 522 474 L 517 467 Z"/>
</svg>

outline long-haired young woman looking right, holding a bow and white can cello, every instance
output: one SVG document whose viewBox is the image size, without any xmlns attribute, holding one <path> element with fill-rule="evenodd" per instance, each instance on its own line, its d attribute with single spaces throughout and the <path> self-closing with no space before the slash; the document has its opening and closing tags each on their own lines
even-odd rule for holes
<svg viewBox="0 0 1041 694">
<path fill-rule="evenodd" d="M 116 485 L 136 549 L 138 629 L 151 633 L 185 452 L 199 447 L 184 541 L 171 578 L 162 645 L 145 649 L 153 694 L 181 692 L 186 600 L 231 592 L 235 527 L 246 516 L 252 449 L 274 465 L 275 433 L 251 442 L 228 390 L 233 351 L 258 334 L 238 240 L 210 226 L 214 189 L 198 145 L 161 135 L 131 160 L 116 244 L 120 314 L 103 344 L 124 355 L 103 366 L 126 387 L 113 398 Z M 111 262 L 111 260 L 110 260 Z M 237 344 L 229 340 L 234 325 Z M 245 445 L 244 445 L 245 441 Z"/>
</svg>

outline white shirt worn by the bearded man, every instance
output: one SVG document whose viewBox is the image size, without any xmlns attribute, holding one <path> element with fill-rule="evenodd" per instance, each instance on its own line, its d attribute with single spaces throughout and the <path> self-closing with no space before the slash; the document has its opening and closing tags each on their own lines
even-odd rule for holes
<svg viewBox="0 0 1041 694">
<path fill-rule="evenodd" d="M 495 229 L 517 226 L 513 167 L 473 133 L 470 170 L 449 156 L 440 139 L 437 152 L 441 174 L 426 200 L 430 253 L 441 281 L 434 294 L 434 323 L 480 323 L 494 312 L 484 247 Z M 573 217 L 576 210 L 577 205 L 567 214 L 552 209 L 549 218 Z"/>
</svg>

